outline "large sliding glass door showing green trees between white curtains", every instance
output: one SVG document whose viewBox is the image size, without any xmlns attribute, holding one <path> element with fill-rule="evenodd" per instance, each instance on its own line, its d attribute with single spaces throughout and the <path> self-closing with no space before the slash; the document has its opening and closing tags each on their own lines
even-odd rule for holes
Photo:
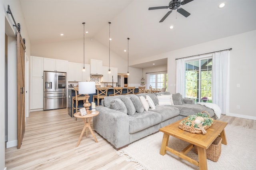
<svg viewBox="0 0 256 170">
<path fill-rule="evenodd" d="M 212 103 L 212 58 L 185 62 L 185 97 Z"/>
</svg>

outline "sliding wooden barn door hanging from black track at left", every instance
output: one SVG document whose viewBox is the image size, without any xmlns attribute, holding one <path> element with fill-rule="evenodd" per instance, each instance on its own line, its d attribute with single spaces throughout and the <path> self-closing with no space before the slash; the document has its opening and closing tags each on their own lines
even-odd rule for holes
<svg viewBox="0 0 256 170">
<path fill-rule="evenodd" d="M 17 32 L 17 139 L 19 149 L 25 133 L 25 44 Z"/>
</svg>

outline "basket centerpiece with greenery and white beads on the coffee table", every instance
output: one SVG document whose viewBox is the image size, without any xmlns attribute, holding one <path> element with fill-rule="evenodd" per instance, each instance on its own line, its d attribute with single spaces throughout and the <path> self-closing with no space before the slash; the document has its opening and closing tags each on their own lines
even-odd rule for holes
<svg viewBox="0 0 256 170">
<path fill-rule="evenodd" d="M 182 130 L 186 130 L 191 133 L 206 133 L 206 129 L 208 129 L 212 123 L 213 119 L 209 117 L 209 114 L 204 114 L 206 111 L 202 111 L 201 113 L 197 113 L 196 115 L 191 115 L 188 119 L 184 119 L 180 122 L 179 128 Z"/>
</svg>

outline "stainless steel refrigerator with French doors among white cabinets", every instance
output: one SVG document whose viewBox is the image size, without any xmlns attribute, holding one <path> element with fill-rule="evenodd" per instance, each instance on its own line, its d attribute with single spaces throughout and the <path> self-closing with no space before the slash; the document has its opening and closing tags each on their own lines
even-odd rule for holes
<svg viewBox="0 0 256 170">
<path fill-rule="evenodd" d="M 67 73 L 44 71 L 44 110 L 67 107 Z"/>
</svg>

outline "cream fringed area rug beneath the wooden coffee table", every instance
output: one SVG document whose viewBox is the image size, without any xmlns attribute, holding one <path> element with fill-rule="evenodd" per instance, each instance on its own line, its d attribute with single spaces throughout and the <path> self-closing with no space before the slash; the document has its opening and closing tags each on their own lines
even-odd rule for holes
<svg viewBox="0 0 256 170">
<path fill-rule="evenodd" d="M 225 128 L 227 145 L 222 144 L 220 158 L 217 162 L 207 159 L 208 170 L 254 170 L 256 169 L 256 130 L 227 125 Z M 116 151 L 126 156 L 127 161 L 136 162 L 138 170 L 194 170 L 199 167 L 166 151 L 160 155 L 163 133 L 158 132 L 142 138 L 126 148 Z M 177 151 L 188 145 L 180 139 L 170 136 L 168 146 Z M 198 161 L 194 148 L 186 154 Z"/>
</svg>

